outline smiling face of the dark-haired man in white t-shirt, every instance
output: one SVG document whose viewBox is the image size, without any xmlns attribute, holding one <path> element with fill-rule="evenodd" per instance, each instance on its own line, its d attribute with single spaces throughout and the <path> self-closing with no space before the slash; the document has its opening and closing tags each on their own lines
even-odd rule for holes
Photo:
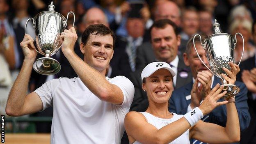
<svg viewBox="0 0 256 144">
<path fill-rule="evenodd" d="M 87 43 L 80 44 L 80 50 L 84 54 L 84 61 L 94 69 L 105 74 L 106 68 L 112 59 L 113 38 L 110 34 L 91 34 Z"/>
</svg>

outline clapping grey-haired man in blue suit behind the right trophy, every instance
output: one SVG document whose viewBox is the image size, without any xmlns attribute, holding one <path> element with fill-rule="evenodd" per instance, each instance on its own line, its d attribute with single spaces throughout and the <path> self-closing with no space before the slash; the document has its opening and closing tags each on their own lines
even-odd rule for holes
<svg viewBox="0 0 256 144">
<path fill-rule="evenodd" d="M 201 56 L 203 62 L 209 67 L 205 50 L 201 46 L 199 39 L 196 39 L 195 45 L 199 56 Z M 191 108 L 193 109 L 194 107 L 199 106 L 201 101 L 203 101 L 203 98 L 210 91 L 210 88 L 217 85 L 217 83 L 221 83 L 220 79 L 213 77 L 213 74 L 208 71 L 206 66 L 204 66 L 199 60 L 199 57 L 197 57 L 197 53 L 194 50 L 193 39 L 190 39 L 190 41 L 187 43 L 187 48 L 183 54 L 183 58 L 185 64 L 190 66 L 193 81 L 183 87 L 180 87 L 179 89 L 174 90 L 171 98 L 169 99 L 169 111 L 177 114 L 185 114 Z M 233 69 L 233 73 L 227 69 L 224 69 L 229 77 L 225 75 L 222 76 L 227 80 L 228 83 L 235 84 L 240 88 L 240 93 L 235 96 L 235 105 L 238 110 L 240 130 L 242 131 L 248 127 L 250 121 L 247 105 L 247 88 L 243 83 L 235 81 L 236 74 L 240 71 L 239 66 L 233 63 L 230 63 L 230 65 Z M 226 107 L 224 105 L 216 107 L 216 109 L 210 112 L 210 114 L 204 116 L 202 120 L 215 123 L 220 126 L 225 126 Z"/>
</svg>

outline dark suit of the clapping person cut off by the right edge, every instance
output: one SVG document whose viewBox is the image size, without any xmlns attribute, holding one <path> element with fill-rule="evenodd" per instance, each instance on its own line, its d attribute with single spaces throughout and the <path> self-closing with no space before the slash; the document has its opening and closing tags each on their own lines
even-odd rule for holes
<svg viewBox="0 0 256 144">
<path fill-rule="evenodd" d="M 237 80 L 242 81 L 241 75 L 243 70 L 251 70 L 256 67 L 255 55 L 240 63 L 240 73 L 238 73 Z M 251 115 L 251 122 L 249 127 L 241 133 L 241 144 L 256 144 L 256 100 L 253 100 L 252 93 L 248 91 L 247 100 L 249 106 L 249 113 Z"/>
</svg>

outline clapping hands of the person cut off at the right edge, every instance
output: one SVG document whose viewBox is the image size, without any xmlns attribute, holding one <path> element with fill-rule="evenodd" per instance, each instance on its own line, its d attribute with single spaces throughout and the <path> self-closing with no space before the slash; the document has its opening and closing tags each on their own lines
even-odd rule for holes
<svg viewBox="0 0 256 144">
<path fill-rule="evenodd" d="M 256 68 L 254 68 L 253 73 Z M 242 71 L 242 81 L 245 83 L 247 89 L 252 93 L 256 93 L 256 84 L 254 80 L 256 80 L 256 76 L 248 70 Z"/>
</svg>

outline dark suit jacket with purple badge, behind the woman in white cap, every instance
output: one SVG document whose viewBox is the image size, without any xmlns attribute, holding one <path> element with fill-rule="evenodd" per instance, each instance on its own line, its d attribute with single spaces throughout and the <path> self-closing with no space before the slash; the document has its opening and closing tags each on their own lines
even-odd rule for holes
<svg viewBox="0 0 256 144">
<path fill-rule="evenodd" d="M 155 60 L 153 60 L 153 61 L 155 61 Z M 147 107 L 149 106 L 149 101 L 146 96 L 146 92 L 144 92 L 142 90 L 141 72 L 142 72 L 142 69 L 136 70 L 135 72 L 131 73 L 129 76 L 131 82 L 133 82 L 133 85 L 135 87 L 133 103 L 130 107 L 131 111 L 144 112 L 144 111 L 146 111 Z M 180 74 L 184 73 L 184 72 L 188 74 L 187 78 L 181 77 Z M 179 57 L 178 73 L 177 73 L 175 88 L 182 87 L 183 85 L 189 83 L 191 80 L 192 80 L 192 74 L 190 72 L 189 67 L 185 66 L 183 60 Z"/>
</svg>

